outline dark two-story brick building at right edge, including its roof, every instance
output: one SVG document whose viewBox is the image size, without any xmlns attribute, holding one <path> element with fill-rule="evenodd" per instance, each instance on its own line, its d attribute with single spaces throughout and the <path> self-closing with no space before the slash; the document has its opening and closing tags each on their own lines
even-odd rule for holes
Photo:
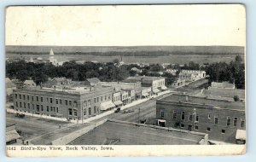
<svg viewBox="0 0 256 162">
<path fill-rule="evenodd" d="M 245 103 L 186 95 L 156 101 L 157 124 L 209 134 L 209 139 L 236 142 L 236 130 L 246 130 Z"/>
</svg>

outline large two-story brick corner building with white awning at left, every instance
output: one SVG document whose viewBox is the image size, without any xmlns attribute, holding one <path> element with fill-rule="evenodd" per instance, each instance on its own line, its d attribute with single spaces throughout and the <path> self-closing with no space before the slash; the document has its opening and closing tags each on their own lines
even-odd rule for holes
<svg viewBox="0 0 256 162">
<path fill-rule="evenodd" d="M 16 111 L 67 119 L 87 119 L 115 107 L 109 87 L 22 89 L 14 94 Z"/>
</svg>

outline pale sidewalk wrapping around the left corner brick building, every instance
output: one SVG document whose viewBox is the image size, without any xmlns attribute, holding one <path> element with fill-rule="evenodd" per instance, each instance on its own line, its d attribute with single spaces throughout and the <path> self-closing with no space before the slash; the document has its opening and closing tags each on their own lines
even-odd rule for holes
<svg viewBox="0 0 256 162">
<path fill-rule="evenodd" d="M 137 100 L 137 101 L 133 101 L 123 107 L 120 107 L 121 110 L 125 110 L 126 108 L 129 108 L 129 107 L 133 107 L 133 106 L 136 106 L 138 104 L 141 104 L 143 103 L 144 101 L 148 101 L 150 100 L 151 98 L 156 98 L 156 97 L 159 97 L 160 95 L 166 95 L 168 93 L 172 92 L 171 90 L 166 90 L 166 91 L 163 91 L 163 92 L 160 92 L 158 95 L 152 95 L 150 98 L 144 98 L 144 99 L 141 99 L 141 100 Z M 20 112 L 17 112 L 16 110 L 14 109 L 10 109 L 10 108 L 6 108 L 6 111 L 8 113 L 20 113 Z M 90 121 L 92 120 L 95 120 L 95 119 L 101 119 L 102 117 L 105 117 L 111 113 L 114 113 L 115 110 L 109 110 L 105 113 L 101 113 L 99 115 L 96 115 L 94 117 L 90 117 L 89 119 L 84 119 L 83 122 L 82 120 L 70 120 L 69 122 L 73 123 L 73 124 L 84 124 L 84 123 L 89 123 Z M 22 112 L 24 113 L 24 112 Z M 58 121 L 67 121 L 66 118 L 57 118 L 57 117 L 51 117 L 51 116 L 47 116 L 47 115 L 38 115 L 38 114 L 34 114 L 34 113 L 24 113 L 26 116 L 32 116 L 32 117 L 38 117 L 38 118 L 44 118 L 44 119 L 53 119 L 53 120 L 58 120 Z"/>
</svg>

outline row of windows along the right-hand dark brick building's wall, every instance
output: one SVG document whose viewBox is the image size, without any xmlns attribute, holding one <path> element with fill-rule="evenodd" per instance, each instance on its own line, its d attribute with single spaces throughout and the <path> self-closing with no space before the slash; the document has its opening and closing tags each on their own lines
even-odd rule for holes
<svg viewBox="0 0 256 162">
<path fill-rule="evenodd" d="M 193 113 L 193 114 L 189 114 L 189 121 L 193 121 L 193 115 L 195 115 L 195 122 L 199 122 L 199 116 L 197 113 Z M 161 118 L 164 118 L 165 117 L 165 112 L 164 111 L 160 111 L 160 116 Z M 211 113 L 208 113 L 208 119 L 211 119 Z M 172 112 L 172 119 L 177 119 L 177 111 L 173 111 Z M 185 112 L 182 112 L 181 113 L 181 119 L 184 120 L 185 119 Z M 238 121 L 238 118 L 234 118 L 233 120 L 233 126 L 237 126 L 237 121 Z M 218 124 L 218 117 L 214 116 L 214 124 Z M 245 119 L 241 119 L 241 128 L 244 127 L 244 124 L 245 124 Z M 231 125 L 231 118 L 230 117 L 227 117 L 227 126 L 230 126 Z"/>
</svg>

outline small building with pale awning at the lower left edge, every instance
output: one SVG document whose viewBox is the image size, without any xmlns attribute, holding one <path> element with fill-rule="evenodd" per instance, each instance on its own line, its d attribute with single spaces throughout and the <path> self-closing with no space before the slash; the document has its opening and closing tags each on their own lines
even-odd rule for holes
<svg viewBox="0 0 256 162">
<path fill-rule="evenodd" d="M 15 144 L 20 139 L 21 136 L 16 130 L 16 124 L 7 122 L 5 130 L 5 141 L 7 145 Z"/>
</svg>

